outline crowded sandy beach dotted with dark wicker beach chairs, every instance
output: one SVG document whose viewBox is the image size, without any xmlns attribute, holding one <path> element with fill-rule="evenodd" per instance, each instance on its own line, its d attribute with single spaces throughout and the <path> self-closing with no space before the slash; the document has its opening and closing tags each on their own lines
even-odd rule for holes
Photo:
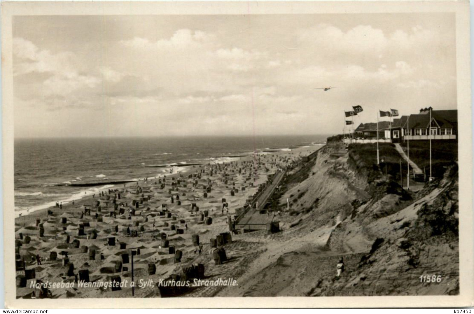
<svg viewBox="0 0 474 314">
<path fill-rule="evenodd" d="M 267 183 L 269 175 L 320 146 L 268 150 L 228 162 L 193 165 L 180 173 L 103 188 L 62 208 L 22 213 L 15 220 L 17 298 L 132 296 L 132 251 L 137 252 L 134 281 L 154 283 L 136 287 L 135 296 L 159 296 L 156 283 L 190 265 L 205 265 L 209 277 L 214 264 L 210 253 L 215 250 L 211 239 L 219 234 L 229 241 L 239 237 L 230 232 L 228 223 L 236 218 L 236 211 Z M 236 250 L 238 242 L 229 250 Z M 251 244 L 242 245 L 241 250 L 251 250 Z M 232 255 L 236 254 L 228 252 L 230 261 Z M 246 256 L 251 258 L 252 254 Z M 83 280 L 120 280 L 125 287 L 117 291 L 79 287 L 77 283 Z M 61 282 L 73 286 L 37 288 L 41 283 Z"/>
</svg>

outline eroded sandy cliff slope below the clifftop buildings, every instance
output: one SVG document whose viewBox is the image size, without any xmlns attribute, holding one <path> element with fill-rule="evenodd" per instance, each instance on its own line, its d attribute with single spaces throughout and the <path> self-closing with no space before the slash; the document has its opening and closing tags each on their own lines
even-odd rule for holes
<svg viewBox="0 0 474 314">
<path fill-rule="evenodd" d="M 326 145 L 316 161 L 283 182 L 277 216 L 283 231 L 251 236 L 262 243 L 263 253 L 256 259 L 259 267 L 249 265 L 237 294 L 458 293 L 457 177 L 453 165 L 443 179 L 407 192 L 346 145 Z M 336 278 L 341 257 L 346 271 Z M 420 277 L 433 275 L 439 282 Z M 224 289 L 222 295 L 230 292 Z"/>
</svg>

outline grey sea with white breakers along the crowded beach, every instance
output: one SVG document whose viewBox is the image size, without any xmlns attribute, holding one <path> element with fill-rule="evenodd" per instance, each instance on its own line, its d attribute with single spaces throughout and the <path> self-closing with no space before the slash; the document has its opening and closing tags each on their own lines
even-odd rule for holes
<svg viewBox="0 0 474 314">
<path fill-rule="evenodd" d="M 321 146 L 327 136 L 15 139 L 15 211 L 26 215 L 119 184 L 114 182 L 162 177 L 195 164 Z"/>
</svg>

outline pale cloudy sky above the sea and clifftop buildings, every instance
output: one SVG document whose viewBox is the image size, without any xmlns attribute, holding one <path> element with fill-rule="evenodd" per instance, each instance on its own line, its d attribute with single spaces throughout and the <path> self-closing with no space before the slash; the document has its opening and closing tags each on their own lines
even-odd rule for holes
<svg viewBox="0 0 474 314">
<path fill-rule="evenodd" d="M 15 137 L 334 134 L 353 105 L 356 125 L 456 108 L 452 14 L 25 16 L 13 37 Z"/>
</svg>

